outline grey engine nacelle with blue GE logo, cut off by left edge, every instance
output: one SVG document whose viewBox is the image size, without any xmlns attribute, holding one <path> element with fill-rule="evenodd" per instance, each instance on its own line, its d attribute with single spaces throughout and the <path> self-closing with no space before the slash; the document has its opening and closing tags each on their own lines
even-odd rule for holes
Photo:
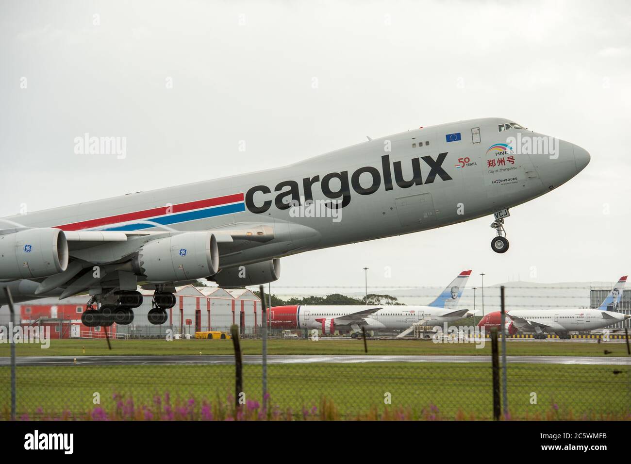
<svg viewBox="0 0 631 464">
<path fill-rule="evenodd" d="M 0 280 L 49 277 L 68 267 L 61 229 L 26 229 L 0 235 Z"/>
</svg>

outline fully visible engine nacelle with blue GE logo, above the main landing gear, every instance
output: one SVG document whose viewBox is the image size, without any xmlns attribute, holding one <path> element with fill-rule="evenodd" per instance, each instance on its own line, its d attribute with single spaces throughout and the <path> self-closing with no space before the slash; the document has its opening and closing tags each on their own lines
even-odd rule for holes
<svg viewBox="0 0 631 464">
<path fill-rule="evenodd" d="M 219 269 L 217 239 L 211 232 L 183 232 L 144 244 L 134 271 L 151 283 L 170 283 L 213 275 Z"/>
</svg>

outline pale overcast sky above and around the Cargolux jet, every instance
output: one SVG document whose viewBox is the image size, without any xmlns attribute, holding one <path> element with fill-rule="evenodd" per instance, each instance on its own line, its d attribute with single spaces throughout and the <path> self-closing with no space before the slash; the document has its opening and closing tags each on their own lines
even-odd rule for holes
<svg viewBox="0 0 631 464">
<path fill-rule="evenodd" d="M 363 285 L 365 266 L 379 288 L 631 271 L 627 1 L 3 1 L 0 66 L 0 217 L 497 116 L 592 157 L 511 210 L 506 254 L 488 217 L 285 258 L 276 286 Z M 86 132 L 126 136 L 127 157 L 74 154 Z"/>
</svg>

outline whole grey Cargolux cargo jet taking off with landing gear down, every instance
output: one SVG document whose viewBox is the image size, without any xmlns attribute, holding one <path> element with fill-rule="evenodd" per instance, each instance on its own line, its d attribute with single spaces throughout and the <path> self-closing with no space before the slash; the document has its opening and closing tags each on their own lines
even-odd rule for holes
<svg viewBox="0 0 631 464">
<path fill-rule="evenodd" d="M 493 215 L 491 246 L 505 253 L 509 208 L 569 181 L 589 160 L 583 148 L 514 121 L 472 119 L 262 172 L 0 218 L 0 287 L 16 302 L 88 292 L 83 323 L 109 326 L 133 321 L 141 285 L 155 289 L 148 317 L 162 324 L 175 285 L 273 282 L 279 259 L 304 251 Z M 453 309 L 454 287 L 427 312 Z M 418 320 L 410 314 L 387 316 Z"/>
</svg>

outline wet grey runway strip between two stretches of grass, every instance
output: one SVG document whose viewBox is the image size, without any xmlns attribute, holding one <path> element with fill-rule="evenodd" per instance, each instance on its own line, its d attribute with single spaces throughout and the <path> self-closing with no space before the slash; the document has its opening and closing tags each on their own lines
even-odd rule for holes
<svg viewBox="0 0 631 464">
<path fill-rule="evenodd" d="M 589 356 L 507 356 L 509 363 L 591 364 L 631 366 L 631 357 Z M 0 357 L 0 366 L 10 366 L 9 357 Z M 261 364 L 260 355 L 243 357 L 244 364 Z M 490 356 L 413 355 L 269 355 L 268 364 L 362 363 L 362 362 L 461 362 L 491 363 Z M 33 356 L 18 357 L 18 366 L 167 366 L 231 365 L 230 355 L 187 356 Z"/>
</svg>

